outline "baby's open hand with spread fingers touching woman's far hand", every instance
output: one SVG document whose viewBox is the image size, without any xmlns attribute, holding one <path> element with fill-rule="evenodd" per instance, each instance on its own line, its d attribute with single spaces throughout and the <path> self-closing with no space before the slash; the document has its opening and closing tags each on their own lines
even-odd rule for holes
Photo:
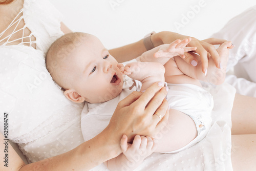
<svg viewBox="0 0 256 171">
<path fill-rule="evenodd" d="M 191 37 L 183 40 L 175 40 L 170 45 L 162 45 L 159 51 L 154 54 L 154 57 L 172 58 L 180 55 L 182 58 L 184 58 L 184 52 L 195 51 L 197 49 L 197 47 L 186 47 L 190 41 Z"/>
</svg>

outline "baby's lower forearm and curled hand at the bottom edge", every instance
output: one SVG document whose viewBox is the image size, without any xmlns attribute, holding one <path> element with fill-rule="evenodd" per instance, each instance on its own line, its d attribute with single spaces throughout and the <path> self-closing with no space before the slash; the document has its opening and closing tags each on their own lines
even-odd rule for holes
<svg viewBox="0 0 256 171">
<path fill-rule="evenodd" d="M 134 170 L 143 160 L 151 155 L 156 144 L 150 137 L 136 135 L 133 143 L 127 143 L 127 136 L 123 135 L 121 142 L 122 153 L 105 162 L 110 170 Z"/>
</svg>

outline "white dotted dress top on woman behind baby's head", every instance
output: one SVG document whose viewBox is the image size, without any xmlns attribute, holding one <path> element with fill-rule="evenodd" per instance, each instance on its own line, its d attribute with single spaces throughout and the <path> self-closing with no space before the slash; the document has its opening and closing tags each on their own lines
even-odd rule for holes
<svg viewBox="0 0 256 171">
<path fill-rule="evenodd" d="M 19 145 L 29 162 L 35 162 L 83 142 L 83 104 L 66 99 L 46 70 L 45 53 L 63 34 L 60 13 L 46 0 L 24 0 L 19 17 L 36 37 L 36 49 L 23 44 L 0 46 L 0 130 L 3 134 L 3 117 L 8 113 L 8 139 Z"/>
</svg>

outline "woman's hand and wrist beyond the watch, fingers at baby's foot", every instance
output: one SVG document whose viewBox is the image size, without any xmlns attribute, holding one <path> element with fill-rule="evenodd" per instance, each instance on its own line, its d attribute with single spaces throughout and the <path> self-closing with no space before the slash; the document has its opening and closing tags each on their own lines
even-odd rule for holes
<svg viewBox="0 0 256 171">
<path fill-rule="evenodd" d="M 170 44 L 176 39 L 184 39 L 189 36 L 181 35 L 174 32 L 162 31 L 151 36 L 154 46 L 159 46 L 161 44 Z M 187 47 L 197 47 L 196 53 L 199 54 L 200 60 L 202 62 L 202 71 L 203 73 L 208 68 L 208 57 L 212 57 L 217 68 L 220 68 L 220 56 L 216 51 L 214 45 L 220 45 L 223 42 L 227 41 L 219 38 L 208 38 L 205 40 L 198 40 L 195 37 L 191 37 L 191 41 Z M 193 56 L 192 53 L 184 53 L 185 58 L 183 58 L 187 63 L 190 63 L 192 66 L 197 65 L 197 58 Z"/>
</svg>

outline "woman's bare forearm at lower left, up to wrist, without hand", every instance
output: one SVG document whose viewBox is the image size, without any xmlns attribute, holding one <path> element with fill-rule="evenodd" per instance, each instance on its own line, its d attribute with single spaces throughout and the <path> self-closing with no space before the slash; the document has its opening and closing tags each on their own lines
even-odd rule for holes
<svg viewBox="0 0 256 171">
<path fill-rule="evenodd" d="M 12 146 L 8 144 L 8 167 L 4 166 L 5 163 L 2 163 L 0 170 L 89 170 L 121 153 L 119 144 L 110 144 L 109 141 L 106 141 L 105 136 L 109 135 L 107 132 L 103 131 L 100 135 L 82 143 L 67 153 L 27 165 L 17 155 Z M 0 136 L 0 154 L 4 156 L 4 137 L 2 134 Z"/>
</svg>

